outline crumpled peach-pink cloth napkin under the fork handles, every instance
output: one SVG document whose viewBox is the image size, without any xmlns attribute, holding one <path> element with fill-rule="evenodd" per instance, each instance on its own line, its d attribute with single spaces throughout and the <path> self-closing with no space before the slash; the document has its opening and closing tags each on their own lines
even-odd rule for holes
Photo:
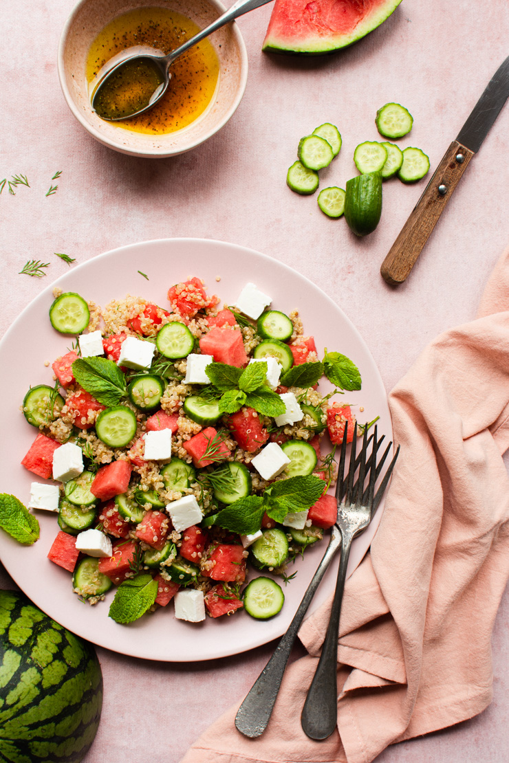
<svg viewBox="0 0 509 763">
<path fill-rule="evenodd" d="M 509 577 L 509 250 L 478 319 L 437 337 L 390 395 L 401 456 L 369 555 L 346 584 L 339 733 L 312 742 L 300 716 L 330 610 L 299 634 L 269 727 L 246 739 L 239 703 L 182 763 L 369 763 L 387 745 L 491 701 L 491 629 Z"/>
</svg>

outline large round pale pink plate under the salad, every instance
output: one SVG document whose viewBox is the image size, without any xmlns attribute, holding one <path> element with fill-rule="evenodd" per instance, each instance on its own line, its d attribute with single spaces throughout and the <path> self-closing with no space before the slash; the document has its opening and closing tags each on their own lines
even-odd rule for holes
<svg viewBox="0 0 509 763">
<path fill-rule="evenodd" d="M 138 271 L 146 273 L 149 280 Z M 217 292 L 225 304 L 235 304 L 243 285 L 253 281 L 272 296 L 272 307 L 289 313 L 297 308 L 304 323 L 304 332 L 312 334 L 321 350 L 327 346 L 349 356 L 359 366 L 362 391 L 348 393 L 348 402 L 364 407 L 361 423 L 379 415 L 379 433 L 391 439 L 391 417 L 385 389 L 369 349 L 353 324 L 323 291 L 295 270 L 275 259 L 221 241 L 202 239 L 169 239 L 147 241 L 106 252 L 85 262 L 59 278 L 54 285 L 63 291 L 77 291 L 101 307 L 113 298 L 127 293 L 140 295 L 165 307 L 166 292 L 172 284 L 198 275 L 208 292 Z M 216 275 L 221 282 L 216 283 Z M 53 285 L 53 286 L 54 286 Z M 2 491 L 12 493 L 27 504 L 31 481 L 36 475 L 27 472 L 21 459 L 37 432 L 24 420 L 19 410 L 30 385 L 53 385 L 51 367 L 56 357 L 67 352 L 72 338 L 56 333 L 51 327 L 48 310 L 53 301 L 53 286 L 45 289 L 21 313 L 0 343 L 0 400 L 2 410 L 2 442 L 0 443 L 0 475 Z M 330 385 L 323 384 L 324 389 Z M 353 544 L 350 572 L 369 549 L 378 526 L 382 507 L 371 526 Z M 37 511 L 40 539 L 34 546 L 21 546 L 6 533 L 0 533 L 0 558 L 14 581 L 44 612 L 63 626 L 89 641 L 134 657 L 192 662 L 225 657 L 253 649 L 281 636 L 292 620 L 304 590 L 326 547 L 326 540 L 317 543 L 298 559 L 298 575 L 285 589 L 285 606 L 272 620 L 253 620 L 244 612 L 234 617 L 207 618 L 198 625 L 176 620 L 172 605 L 160 608 L 153 615 L 142 617 L 130 626 L 118 625 L 108 617 L 113 597 L 95 607 L 82 604 L 72 594 L 68 572 L 47 559 L 47 552 L 59 530 L 56 517 Z M 333 591 L 337 565 L 331 565 L 311 604 L 316 610 Z M 293 571 L 293 568 L 292 570 Z"/>
</svg>

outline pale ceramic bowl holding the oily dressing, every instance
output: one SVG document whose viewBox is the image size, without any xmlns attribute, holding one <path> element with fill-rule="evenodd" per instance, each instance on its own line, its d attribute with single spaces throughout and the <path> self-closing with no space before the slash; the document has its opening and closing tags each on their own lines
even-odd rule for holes
<svg viewBox="0 0 509 763">
<path fill-rule="evenodd" d="M 176 156 L 217 133 L 240 104 L 247 79 L 246 46 L 237 24 L 227 24 L 208 38 L 220 65 L 214 102 L 192 124 L 166 135 L 147 135 L 98 118 L 90 105 L 85 77 L 85 62 L 92 41 L 116 16 L 135 8 L 155 6 L 179 11 L 201 29 L 226 10 L 219 0 L 80 0 L 63 29 L 58 51 L 63 95 L 85 130 L 115 151 L 147 158 Z"/>
</svg>

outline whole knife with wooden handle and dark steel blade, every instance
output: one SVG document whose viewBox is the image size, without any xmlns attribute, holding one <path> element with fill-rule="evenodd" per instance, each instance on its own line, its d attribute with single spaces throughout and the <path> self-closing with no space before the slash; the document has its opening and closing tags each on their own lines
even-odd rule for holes
<svg viewBox="0 0 509 763">
<path fill-rule="evenodd" d="M 382 262 L 380 272 L 388 284 L 398 285 L 407 278 L 470 159 L 478 152 L 508 96 L 509 56 L 498 67 L 458 137 L 446 150 L 423 195 Z"/>
</svg>

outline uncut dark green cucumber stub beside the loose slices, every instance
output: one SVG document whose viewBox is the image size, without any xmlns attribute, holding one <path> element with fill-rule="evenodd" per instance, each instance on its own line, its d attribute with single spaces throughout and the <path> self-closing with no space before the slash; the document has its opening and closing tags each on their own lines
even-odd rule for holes
<svg viewBox="0 0 509 763">
<path fill-rule="evenodd" d="M 367 172 L 346 182 L 345 220 L 356 236 L 367 236 L 382 215 L 382 175 Z"/>
</svg>

